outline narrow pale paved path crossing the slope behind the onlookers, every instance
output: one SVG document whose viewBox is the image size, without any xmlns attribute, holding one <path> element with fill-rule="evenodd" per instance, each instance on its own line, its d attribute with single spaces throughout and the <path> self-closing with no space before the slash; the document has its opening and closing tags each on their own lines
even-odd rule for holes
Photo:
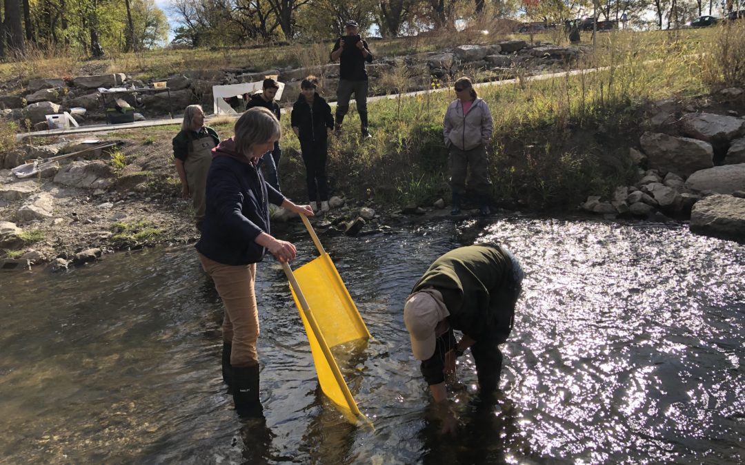
<svg viewBox="0 0 745 465">
<path fill-rule="evenodd" d="M 657 61 L 657 60 L 654 60 Z M 491 81 L 488 83 L 478 83 L 474 84 L 474 87 L 481 88 L 481 87 L 490 87 L 490 86 L 508 86 L 510 84 L 516 84 L 519 82 L 519 80 L 525 80 L 525 81 L 539 81 L 539 80 L 549 80 L 554 79 L 557 77 L 566 77 L 567 74 L 569 76 L 577 76 L 579 74 L 591 74 L 595 73 L 597 71 L 606 71 L 610 69 L 610 66 L 603 66 L 602 68 L 588 68 L 588 69 L 575 69 L 574 71 L 562 71 L 560 73 L 546 73 L 546 74 L 537 74 L 536 76 L 530 76 L 530 77 L 524 77 L 524 78 L 515 78 L 515 79 L 506 79 L 506 80 L 498 80 L 498 81 Z M 451 89 L 449 87 L 441 88 L 441 89 L 430 89 L 425 91 L 417 91 L 417 92 L 406 92 L 405 94 L 401 94 L 402 97 L 416 97 L 416 95 L 425 95 L 425 94 L 433 94 L 436 92 L 450 92 Z M 399 94 L 390 94 L 390 95 L 378 95 L 376 97 L 368 97 L 368 102 L 375 102 L 377 100 L 384 100 L 384 99 L 396 99 L 399 97 Z M 354 101 L 354 100 L 352 100 Z M 331 106 L 336 106 L 336 102 L 329 103 Z M 282 113 L 288 112 L 288 108 L 283 108 Z M 229 115 L 228 115 L 229 116 Z M 221 115 L 220 118 L 224 118 L 225 115 Z M 238 118 L 240 115 L 235 115 L 233 118 Z M 206 118 L 206 121 L 210 121 L 212 118 L 215 118 L 214 115 L 208 116 Z M 21 141 L 23 138 L 27 137 L 44 137 L 49 135 L 70 135 L 70 134 L 89 134 L 91 132 L 108 132 L 108 131 L 120 131 L 122 129 L 137 129 L 142 127 L 150 127 L 150 126 L 167 126 L 169 124 L 181 124 L 183 121 L 182 118 L 162 118 L 162 119 L 155 119 L 155 120 L 148 120 L 148 121 L 136 121 L 134 123 L 124 123 L 124 124 L 95 124 L 90 126 L 78 126 L 78 127 L 71 127 L 68 129 L 48 129 L 46 131 L 36 131 L 36 132 L 26 132 L 25 134 L 19 134 L 16 135 L 16 141 Z"/>
</svg>

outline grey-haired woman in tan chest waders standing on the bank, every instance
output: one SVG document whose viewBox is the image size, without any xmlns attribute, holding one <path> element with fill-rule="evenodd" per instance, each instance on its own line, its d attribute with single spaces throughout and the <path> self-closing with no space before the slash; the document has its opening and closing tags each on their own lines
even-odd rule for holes
<svg viewBox="0 0 745 465">
<path fill-rule="evenodd" d="M 181 196 L 191 197 L 194 221 L 202 230 L 204 219 L 204 188 L 207 171 L 212 162 L 212 149 L 220 144 L 215 129 L 204 125 L 204 112 L 199 105 L 189 105 L 184 110 L 181 131 L 174 137 L 174 162 L 181 180 Z"/>
</svg>

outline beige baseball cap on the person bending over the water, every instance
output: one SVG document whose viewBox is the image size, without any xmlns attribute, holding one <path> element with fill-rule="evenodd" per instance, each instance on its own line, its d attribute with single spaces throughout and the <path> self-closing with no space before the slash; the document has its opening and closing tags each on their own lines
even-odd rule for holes
<svg viewBox="0 0 745 465">
<path fill-rule="evenodd" d="M 443 295 L 435 289 L 414 292 L 404 304 L 404 324 L 411 340 L 411 352 L 417 360 L 426 360 L 434 355 L 437 336 L 434 328 L 440 320 L 450 315 Z"/>
</svg>

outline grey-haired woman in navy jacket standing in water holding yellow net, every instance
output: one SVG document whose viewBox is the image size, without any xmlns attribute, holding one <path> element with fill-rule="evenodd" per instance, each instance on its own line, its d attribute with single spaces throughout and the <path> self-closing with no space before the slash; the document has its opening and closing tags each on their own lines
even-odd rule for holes
<svg viewBox="0 0 745 465">
<path fill-rule="evenodd" d="M 261 417 L 259 402 L 259 313 L 256 263 L 267 249 L 277 260 L 295 257 L 291 243 L 270 235 L 269 202 L 298 214 L 313 215 L 264 182 L 259 158 L 274 147 L 279 121 L 265 108 L 250 109 L 235 123 L 235 136 L 212 151 L 207 175 L 207 208 L 202 237 L 195 246 L 225 305 L 223 380 L 232 390 L 241 417 Z"/>
</svg>

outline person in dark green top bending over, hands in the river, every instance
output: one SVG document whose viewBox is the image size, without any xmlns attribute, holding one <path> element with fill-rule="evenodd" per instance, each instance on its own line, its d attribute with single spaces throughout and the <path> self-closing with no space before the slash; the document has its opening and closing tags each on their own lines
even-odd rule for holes
<svg viewBox="0 0 745 465">
<path fill-rule="evenodd" d="M 443 430 L 453 431 L 445 375 L 470 349 L 479 394 L 484 400 L 499 387 L 502 353 L 513 328 L 524 272 L 504 246 L 480 243 L 455 248 L 429 266 L 404 304 L 404 324 L 422 376 L 441 407 Z M 456 341 L 453 330 L 463 333 Z"/>
</svg>

